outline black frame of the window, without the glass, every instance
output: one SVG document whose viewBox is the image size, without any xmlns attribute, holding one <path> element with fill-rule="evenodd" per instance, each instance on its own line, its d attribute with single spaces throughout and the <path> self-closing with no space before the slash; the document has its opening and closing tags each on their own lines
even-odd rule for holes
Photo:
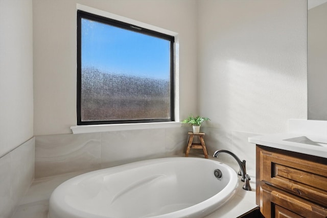
<svg viewBox="0 0 327 218">
<path fill-rule="evenodd" d="M 170 41 L 170 118 L 160 119 L 130 119 L 130 120 L 93 120 L 82 121 L 81 114 L 81 88 L 82 88 L 82 39 L 81 39 L 81 20 L 82 18 L 106 23 L 111 26 L 123 28 L 129 31 L 146 34 Z M 100 124 L 128 124 L 128 123 L 154 123 L 154 122 L 173 122 L 175 121 L 175 37 L 138 27 L 123 21 L 103 17 L 100 15 L 77 10 L 77 125 L 100 125 Z"/>
</svg>

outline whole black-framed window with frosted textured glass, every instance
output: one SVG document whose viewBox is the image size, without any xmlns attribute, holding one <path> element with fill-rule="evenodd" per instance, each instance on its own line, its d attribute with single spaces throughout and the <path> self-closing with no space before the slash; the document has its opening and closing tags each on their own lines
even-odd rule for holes
<svg viewBox="0 0 327 218">
<path fill-rule="evenodd" d="M 77 124 L 174 120 L 174 37 L 77 12 Z"/>
</svg>

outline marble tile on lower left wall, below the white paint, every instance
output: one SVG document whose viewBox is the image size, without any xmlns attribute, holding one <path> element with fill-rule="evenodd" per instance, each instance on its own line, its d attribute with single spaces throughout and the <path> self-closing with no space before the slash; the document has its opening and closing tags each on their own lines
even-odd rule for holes
<svg viewBox="0 0 327 218">
<path fill-rule="evenodd" d="M 34 179 L 32 138 L 0 158 L 0 218 L 9 218 Z"/>
</svg>

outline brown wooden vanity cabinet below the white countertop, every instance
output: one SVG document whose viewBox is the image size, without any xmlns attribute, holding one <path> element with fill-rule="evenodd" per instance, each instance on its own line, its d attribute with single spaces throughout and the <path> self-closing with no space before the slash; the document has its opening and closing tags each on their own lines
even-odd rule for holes
<svg viewBox="0 0 327 218">
<path fill-rule="evenodd" d="M 266 218 L 326 218 L 327 159 L 257 144 L 256 204 Z"/>
</svg>

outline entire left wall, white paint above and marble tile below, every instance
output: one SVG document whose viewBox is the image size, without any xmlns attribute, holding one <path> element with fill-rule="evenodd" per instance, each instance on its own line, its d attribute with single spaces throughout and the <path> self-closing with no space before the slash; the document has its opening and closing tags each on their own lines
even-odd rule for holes
<svg viewBox="0 0 327 218">
<path fill-rule="evenodd" d="M 0 217 L 34 178 L 32 0 L 0 0 Z"/>
</svg>

